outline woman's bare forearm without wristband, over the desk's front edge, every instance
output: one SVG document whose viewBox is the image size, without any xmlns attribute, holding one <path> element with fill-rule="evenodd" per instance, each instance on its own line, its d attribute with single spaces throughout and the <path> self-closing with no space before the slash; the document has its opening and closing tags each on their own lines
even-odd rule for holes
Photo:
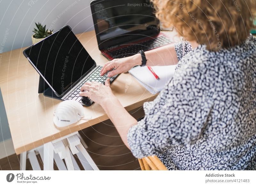
<svg viewBox="0 0 256 186">
<path fill-rule="evenodd" d="M 115 96 L 104 100 L 101 106 L 115 125 L 124 144 L 130 149 L 127 143 L 127 134 L 131 126 L 137 124 L 137 120 L 125 110 Z"/>
</svg>

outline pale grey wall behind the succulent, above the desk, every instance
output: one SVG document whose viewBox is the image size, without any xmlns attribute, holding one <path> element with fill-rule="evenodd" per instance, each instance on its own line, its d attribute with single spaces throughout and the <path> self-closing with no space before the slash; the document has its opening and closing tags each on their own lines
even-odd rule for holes
<svg viewBox="0 0 256 186">
<path fill-rule="evenodd" d="M 93 30 L 91 0 L 0 1 L 0 53 L 32 44 L 35 22 L 55 31 L 69 25 L 75 34 Z M 54 31 L 53 30 L 53 31 Z"/>
</svg>

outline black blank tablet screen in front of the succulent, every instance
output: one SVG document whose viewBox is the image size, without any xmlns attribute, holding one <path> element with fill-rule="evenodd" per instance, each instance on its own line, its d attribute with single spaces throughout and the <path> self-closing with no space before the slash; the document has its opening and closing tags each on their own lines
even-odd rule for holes
<svg viewBox="0 0 256 186">
<path fill-rule="evenodd" d="M 94 65 L 94 60 L 68 26 L 25 53 L 58 95 L 64 95 Z"/>
</svg>

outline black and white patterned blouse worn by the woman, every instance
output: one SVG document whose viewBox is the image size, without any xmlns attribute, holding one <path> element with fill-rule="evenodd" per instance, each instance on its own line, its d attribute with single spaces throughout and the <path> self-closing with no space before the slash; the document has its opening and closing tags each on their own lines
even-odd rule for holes
<svg viewBox="0 0 256 186">
<path fill-rule="evenodd" d="M 175 50 L 175 75 L 128 132 L 133 155 L 157 155 L 170 170 L 255 170 L 256 38 L 216 52 L 188 42 Z"/>
</svg>

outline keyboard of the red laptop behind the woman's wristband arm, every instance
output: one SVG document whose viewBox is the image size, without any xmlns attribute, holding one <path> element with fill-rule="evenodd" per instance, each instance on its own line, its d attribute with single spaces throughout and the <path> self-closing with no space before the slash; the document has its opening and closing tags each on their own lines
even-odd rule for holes
<svg viewBox="0 0 256 186">
<path fill-rule="evenodd" d="M 160 36 L 151 40 L 130 45 L 128 47 L 110 51 L 108 52 L 108 54 L 110 54 L 112 58 L 125 58 L 128 56 L 137 54 L 140 50 L 147 51 L 147 50 L 155 49 L 160 46 L 167 45 L 169 43 L 172 43 L 172 41 L 169 38 L 165 36 Z"/>
</svg>

